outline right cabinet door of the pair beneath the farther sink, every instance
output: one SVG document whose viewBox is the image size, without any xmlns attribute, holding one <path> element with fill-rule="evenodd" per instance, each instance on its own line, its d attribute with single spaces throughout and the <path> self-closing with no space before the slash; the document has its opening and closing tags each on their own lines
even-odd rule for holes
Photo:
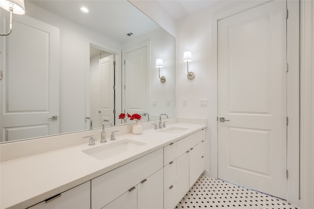
<svg viewBox="0 0 314 209">
<path fill-rule="evenodd" d="M 193 186 L 200 174 L 199 144 L 190 149 L 189 188 Z"/>
</svg>

